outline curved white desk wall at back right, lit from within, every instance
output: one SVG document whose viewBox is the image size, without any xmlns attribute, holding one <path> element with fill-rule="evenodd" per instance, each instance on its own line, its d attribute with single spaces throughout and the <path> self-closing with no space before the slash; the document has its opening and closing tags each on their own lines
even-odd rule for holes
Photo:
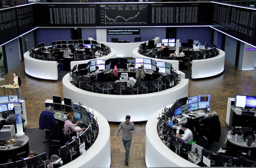
<svg viewBox="0 0 256 168">
<path fill-rule="evenodd" d="M 219 51 L 220 53 L 216 57 L 193 60 L 191 78 L 206 78 L 222 73 L 224 71 L 225 52 Z"/>
</svg>

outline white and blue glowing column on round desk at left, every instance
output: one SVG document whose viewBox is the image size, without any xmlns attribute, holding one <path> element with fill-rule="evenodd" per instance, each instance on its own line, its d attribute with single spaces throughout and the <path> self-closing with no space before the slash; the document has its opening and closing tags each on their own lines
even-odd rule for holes
<svg viewBox="0 0 256 168">
<path fill-rule="evenodd" d="M 24 137 L 25 133 L 23 132 L 23 127 L 22 127 L 22 119 L 21 119 L 21 103 L 14 102 L 14 109 L 15 109 L 15 118 L 16 118 L 16 127 L 17 127 L 17 138 L 22 138 Z"/>
</svg>

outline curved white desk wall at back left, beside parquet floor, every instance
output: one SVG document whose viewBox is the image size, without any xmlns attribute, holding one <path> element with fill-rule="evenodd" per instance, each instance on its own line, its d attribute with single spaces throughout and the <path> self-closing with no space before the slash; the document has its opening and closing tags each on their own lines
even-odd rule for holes
<svg viewBox="0 0 256 168">
<path fill-rule="evenodd" d="M 29 56 L 29 52 L 24 53 L 25 72 L 35 78 L 58 80 L 58 62 L 44 61 Z"/>
</svg>

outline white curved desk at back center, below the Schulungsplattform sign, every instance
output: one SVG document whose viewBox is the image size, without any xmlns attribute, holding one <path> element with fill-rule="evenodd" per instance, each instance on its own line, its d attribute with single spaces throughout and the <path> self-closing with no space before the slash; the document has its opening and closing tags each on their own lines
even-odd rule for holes
<svg viewBox="0 0 256 168">
<path fill-rule="evenodd" d="M 93 38 L 88 38 L 88 40 L 93 40 Z M 155 44 L 159 43 L 159 37 L 156 37 Z M 144 42 L 127 42 L 127 43 L 118 43 L 118 42 L 101 42 L 102 44 L 105 44 L 106 46 L 109 46 L 111 49 L 116 50 L 116 56 L 117 57 L 132 57 L 132 50 L 139 47 L 140 44 Z M 148 41 L 145 41 L 148 42 Z"/>
</svg>

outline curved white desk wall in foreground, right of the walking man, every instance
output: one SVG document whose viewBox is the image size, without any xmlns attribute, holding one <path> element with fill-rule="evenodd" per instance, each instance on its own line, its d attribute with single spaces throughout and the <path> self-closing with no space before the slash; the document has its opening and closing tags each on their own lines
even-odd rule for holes
<svg viewBox="0 0 256 168">
<path fill-rule="evenodd" d="M 171 107 L 168 105 L 166 107 Z M 169 149 L 158 136 L 157 117 L 162 116 L 162 109 L 157 110 L 149 119 L 146 125 L 146 155 L 147 167 L 199 167 L 186 159 L 180 157 Z"/>
</svg>

